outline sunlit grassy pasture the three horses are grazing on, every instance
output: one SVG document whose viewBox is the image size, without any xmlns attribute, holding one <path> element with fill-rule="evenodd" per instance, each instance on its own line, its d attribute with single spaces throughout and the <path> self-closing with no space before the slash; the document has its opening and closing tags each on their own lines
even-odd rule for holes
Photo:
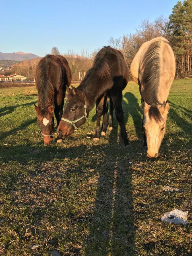
<svg viewBox="0 0 192 256">
<path fill-rule="evenodd" d="M 191 87 L 192 79 L 172 85 L 155 160 L 142 150 L 134 82 L 123 91 L 133 149 L 124 147 L 115 117 L 115 129 L 92 141 L 95 107 L 71 138 L 47 147 L 35 88 L 0 89 L 0 254 L 191 255 Z M 182 192 L 164 192 L 164 185 Z M 189 211 L 186 226 L 160 220 L 174 207 Z"/>
</svg>

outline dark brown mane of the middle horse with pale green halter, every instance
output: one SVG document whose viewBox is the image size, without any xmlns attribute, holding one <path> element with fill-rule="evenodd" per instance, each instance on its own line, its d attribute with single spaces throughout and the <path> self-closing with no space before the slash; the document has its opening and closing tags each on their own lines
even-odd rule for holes
<svg viewBox="0 0 192 256">
<path fill-rule="evenodd" d="M 81 84 L 84 80 L 87 79 L 92 73 L 95 73 L 102 80 L 107 80 L 111 75 L 111 69 L 109 67 L 108 55 L 113 54 L 117 56 L 117 52 L 115 49 L 110 48 L 110 46 L 104 46 L 95 56 L 93 61 L 93 66 L 90 68 L 82 80 Z"/>
</svg>

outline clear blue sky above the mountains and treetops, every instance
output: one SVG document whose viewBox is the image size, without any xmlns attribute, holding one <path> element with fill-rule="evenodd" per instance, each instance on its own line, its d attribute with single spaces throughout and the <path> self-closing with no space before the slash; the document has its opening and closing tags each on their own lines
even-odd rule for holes
<svg viewBox="0 0 192 256">
<path fill-rule="evenodd" d="M 0 52 L 24 51 L 44 56 L 57 46 L 92 52 L 111 36 L 134 33 L 142 20 L 168 18 L 175 0 L 1 1 Z"/>
</svg>

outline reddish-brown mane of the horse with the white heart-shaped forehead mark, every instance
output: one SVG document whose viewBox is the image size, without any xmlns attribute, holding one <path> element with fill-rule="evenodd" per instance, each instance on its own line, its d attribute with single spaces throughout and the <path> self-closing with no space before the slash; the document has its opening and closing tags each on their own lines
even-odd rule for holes
<svg viewBox="0 0 192 256">
<path fill-rule="evenodd" d="M 40 60 L 36 69 L 35 81 L 38 90 L 38 106 L 44 109 L 51 106 L 54 95 L 53 81 L 49 76 L 50 64 L 58 67 L 57 56 L 46 55 Z"/>
</svg>

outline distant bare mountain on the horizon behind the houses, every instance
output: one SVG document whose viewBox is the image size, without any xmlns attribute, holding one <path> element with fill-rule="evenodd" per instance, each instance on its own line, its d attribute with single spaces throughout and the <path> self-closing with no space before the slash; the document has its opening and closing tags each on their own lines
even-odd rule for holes
<svg viewBox="0 0 192 256">
<path fill-rule="evenodd" d="M 12 53 L 3 53 L 0 52 L 0 60 L 15 60 L 15 61 L 24 61 L 27 59 L 38 58 L 39 56 L 32 53 L 25 53 L 22 51 L 12 52 Z"/>
</svg>

